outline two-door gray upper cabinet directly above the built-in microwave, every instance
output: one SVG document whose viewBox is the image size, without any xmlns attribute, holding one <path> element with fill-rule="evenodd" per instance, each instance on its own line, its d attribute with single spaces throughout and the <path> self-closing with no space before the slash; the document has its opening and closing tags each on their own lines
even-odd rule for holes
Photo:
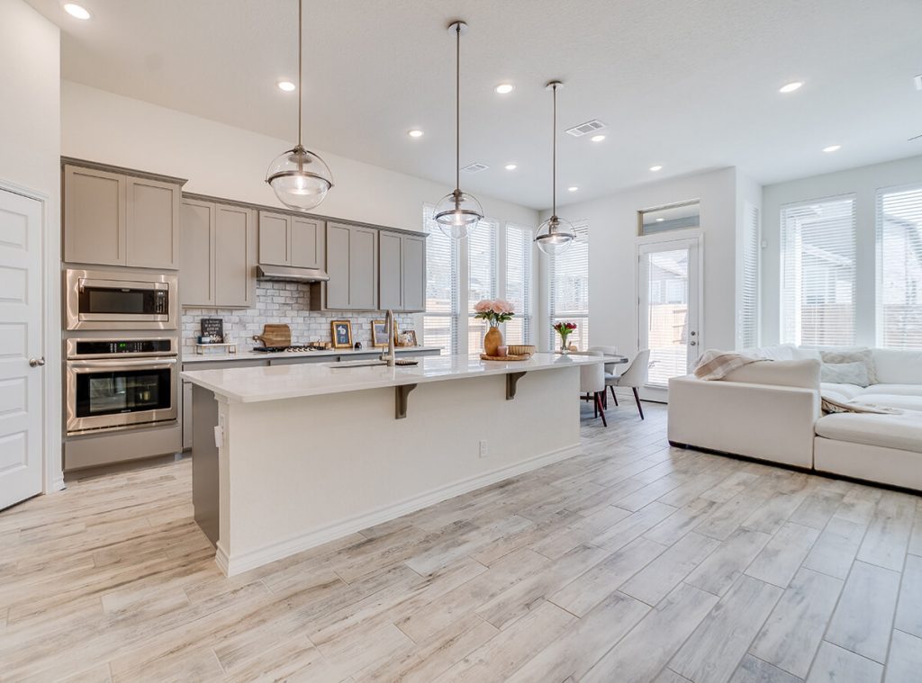
<svg viewBox="0 0 922 683">
<path fill-rule="evenodd" d="M 182 184 L 65 164 L 65 262 L 177 270 Z"/>
</svg>

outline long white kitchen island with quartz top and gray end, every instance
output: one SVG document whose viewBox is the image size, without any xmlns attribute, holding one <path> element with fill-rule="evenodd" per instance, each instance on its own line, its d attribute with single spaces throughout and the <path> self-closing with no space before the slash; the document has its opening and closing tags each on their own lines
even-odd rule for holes
<svg viewBox="0 0 922 683">
<path fill-rule="evenodd" d="M 185 371 L 195 520 L 231 576 L 561 460 L 603 360 Z"/>
</svg>

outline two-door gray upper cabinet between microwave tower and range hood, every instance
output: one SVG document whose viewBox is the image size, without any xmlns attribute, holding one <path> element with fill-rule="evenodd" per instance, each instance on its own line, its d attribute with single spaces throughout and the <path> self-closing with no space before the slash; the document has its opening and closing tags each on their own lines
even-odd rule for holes
<svg viewBox="0 0 922 683">
<path fill-rule="evenodd" d="M 183 199 L 183 306 L 255 304 L 256 217 L 252 209 Z"/>
</svg>

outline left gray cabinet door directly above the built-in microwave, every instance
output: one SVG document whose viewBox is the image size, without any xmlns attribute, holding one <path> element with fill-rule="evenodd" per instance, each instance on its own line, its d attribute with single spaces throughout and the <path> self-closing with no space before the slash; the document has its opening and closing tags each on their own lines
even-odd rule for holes
<svg viewBox="0 0 922 683">
<path fill-rule="evenodd" d="M 118 173 L 65 166 L 65 261 L 125 264 L 126 183 Z"/>
</svg>

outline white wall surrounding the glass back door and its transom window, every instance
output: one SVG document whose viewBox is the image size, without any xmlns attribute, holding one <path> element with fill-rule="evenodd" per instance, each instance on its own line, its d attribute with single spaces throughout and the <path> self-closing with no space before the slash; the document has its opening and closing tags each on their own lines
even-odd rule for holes
<svg viewBox="0 0 922 683">
<path fill-rule="evenodd" d="M 737 171 L 723 169 L 644 184 L 588 202 L 561 206 L 558 214 L 589 224 L 589 340 L 617 346 L 622 353 L 637 350 L 637 212 L 698 199 L 704 232 L 703 325 L 706 347 L 736 344 L 736 230 L 739 202 Z M 545 217 L 542 217 L 545 218 Z M 542 279 L 548 257 L 542 256 Z M 543 301 L 547 301 L 544 291 Z M 542 305 L 540 329 L 548 326 Z M 538 337 L 542 346 L 547 340 Z"/>
</svg>

